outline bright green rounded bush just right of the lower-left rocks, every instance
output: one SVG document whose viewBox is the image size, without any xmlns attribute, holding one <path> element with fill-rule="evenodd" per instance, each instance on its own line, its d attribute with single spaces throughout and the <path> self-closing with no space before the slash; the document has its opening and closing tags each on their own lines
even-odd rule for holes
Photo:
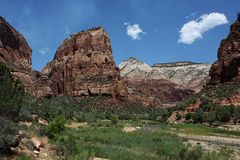
<svg viewBox="0 0 240 160">
<path fill-rule="evenodd" d="M 47 135 L 49 138 L 54 138 L 65 129 L 65 119 L 62 116 L 58 116 L 47 127 Z"/>
</svg>

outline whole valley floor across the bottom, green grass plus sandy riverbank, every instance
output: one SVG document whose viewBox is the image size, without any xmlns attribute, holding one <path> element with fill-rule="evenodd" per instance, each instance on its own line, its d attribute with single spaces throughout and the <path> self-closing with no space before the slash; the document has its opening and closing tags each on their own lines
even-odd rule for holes
<svg viewBox="0 0 240 160">
<path fill-rule="evenodd" d="M 60 148 L 56 159 L 240 159 L 239 130 L 154 121 L 101 120 L 65 126 L 65 131 L 49 141 Z"/>
</svg>

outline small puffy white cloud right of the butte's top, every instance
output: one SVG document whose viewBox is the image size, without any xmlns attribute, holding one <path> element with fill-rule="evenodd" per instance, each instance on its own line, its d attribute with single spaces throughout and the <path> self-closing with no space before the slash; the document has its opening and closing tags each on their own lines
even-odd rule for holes
<svg viewBox="0 0 240 160">
<path fill-rule="evenodd" d="M 146 34 L 140 28 L 139 24 L 130 25 L 130 23 L 125 22 L 125 26 L 127 26 L 127 35 L 130 36 L 133 40 L 139 40 L 141 34 Z"/>
</svg>

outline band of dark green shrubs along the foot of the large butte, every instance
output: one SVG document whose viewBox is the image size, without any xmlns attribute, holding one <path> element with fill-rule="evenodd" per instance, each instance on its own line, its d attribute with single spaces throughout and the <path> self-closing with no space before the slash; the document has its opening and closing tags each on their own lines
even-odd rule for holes
<svg viewBox="0 0 240 160">
<path fill-rule="evenodd" d="M 31 114 L 36 114 L 48 121 L 61 115 L 66 120 L 78 122 L 111 120 L 113 117 L 119 120 L 156 120 L 161 115 L 159 120 L 164 121 L 170 115 L 166 110 L 146 108 L 139 103 L 120 102 L 113 105 L 109 99 L 104 96 L 86 97 L 81 100 L 68 96 L 38 100 L 29 98 L 21 108 L 20 115 L 22 120 L 29 120 Z"/>
</svg>

